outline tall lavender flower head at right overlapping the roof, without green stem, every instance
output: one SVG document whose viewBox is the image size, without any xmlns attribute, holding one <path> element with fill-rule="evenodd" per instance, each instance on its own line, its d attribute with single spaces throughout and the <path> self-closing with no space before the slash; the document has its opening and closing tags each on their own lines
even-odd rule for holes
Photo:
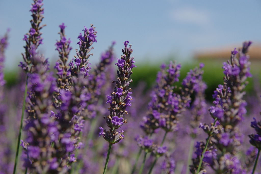
<svg viewBox="0 0 261 174">
<path fill-rule="evenodd" d="M 215 107 L 210 108 L 210 114 L 213 118 L 217 118 L 220 123 L 218 126 L 220 132 L 211 137 L 211 141 L 220 150 L 221 156 L 231 154 L 233 159 L 242 143 L 242 136 L 236 125 L 244 119 L 244 114 L 246 114 L 246 102 L 242 100 L 242 96 L 245 94 L 243 89 L 247 84 L 245 82 L 246 78 L 251 77 L 249 57 L 245 52 L 248 49 L 246 46 L 248 47 L 250 44 L 251 42 L 243 44 L 242 50 L 239 50 L 239 60 L 236 59 L 237 51 L 234 50 L 232 51 L 231 62 L 223 63 L 224 74 L 226 75 L 224 85 L 220 85 L 214 92 L 213 98 L 215 98 L 215 101 L 213 103 Z M 213 169 L 224 172 L 239 170 L 239 167 L 235 169 L 232 166 L 222 165 L 221 156 L 219 155 L 217 163 L 211 166 Z M 242 170 L 240 169 L 240 171 Z"/>
</svg>

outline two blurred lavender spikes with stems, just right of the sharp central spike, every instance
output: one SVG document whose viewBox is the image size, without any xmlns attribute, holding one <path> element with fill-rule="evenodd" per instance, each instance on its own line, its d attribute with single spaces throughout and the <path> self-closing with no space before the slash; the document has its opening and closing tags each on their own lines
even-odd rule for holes
<svg viewBox="0 0 261 174">
<path fill-rule="evenodd" d="M 190 106 L 190 96 L 193 93 L 199 93 L 202 90 L 204 85 L 202 82 L 203 71 L 201 68 L 203 67 L 204 65 L 200 64 L 199 68 L 195 68 L 187 74 L 186 78 L 182 82 L 183 88 L 180 88 L 180 95 L 174 93 L 174 89 L 176 87 L 173 86 L 173 84 L 179 81 L 178 78 L 180 75 L 179 70 L 181 65 L 176 65 L 175 63 L 170 62 L 169 69 L 167 70 L 165 69 L 166 66 L 164 64 L 161 66 L 161 71 L 157 75 L 157 85 L 152 93 L 152 100 L 149 103 L 149 114 L 147 117 L 144 117 L 144 121 L 141 123 L 141 128 L 143 128 L 147 134 L 152 135 L 152 133 L 160 127 L 165 131 L 161 145 L 154 145 L 156 148 L 154 148 L 154 151 L 152 152 L 156 158 L 151 165 L 149 173 L 152 172 L 158 157 L 167 152 L 167 147 L 162 146 L 166 135 L 168 132 L 178 130 L 178 117 L 182 111 L 185 111 L 186 108 Z M 149 151 L 145 149 L 144 161 L 141 165 L 140 173 L 143 171 L 143 166 L 148 152 Z M 135 166 L 136 163 L 133 167 L 132 173 L 135 170 Z"/>
</svg>

